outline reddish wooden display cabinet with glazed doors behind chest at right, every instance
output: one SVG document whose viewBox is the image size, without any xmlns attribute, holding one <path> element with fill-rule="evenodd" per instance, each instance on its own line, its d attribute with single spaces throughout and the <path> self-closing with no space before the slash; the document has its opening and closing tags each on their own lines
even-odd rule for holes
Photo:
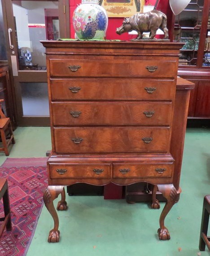
<svg viewBox="0 0 210 256">
<path fill-rule="evenodd" d="M 189 118 L 210 118 L 210 1 L 191 0 L 174 17 L 175 42 L 184 42 L 180 50 L 179 71 L 182 78 L 196 84 L 191 93 Z"/>
</svg>

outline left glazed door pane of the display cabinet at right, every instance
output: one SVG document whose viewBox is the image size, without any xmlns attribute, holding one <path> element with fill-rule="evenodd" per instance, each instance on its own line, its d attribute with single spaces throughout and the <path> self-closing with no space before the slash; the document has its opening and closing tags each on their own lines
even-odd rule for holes
<svg viewBox="0 0 210 256">
<path fill-rule="evenodd" d="M 175 16 L 174 41 L 185 45 L 180 50 L 179 65 L 197 66 L 204 0 L 192 0 Z"/>
</svg>

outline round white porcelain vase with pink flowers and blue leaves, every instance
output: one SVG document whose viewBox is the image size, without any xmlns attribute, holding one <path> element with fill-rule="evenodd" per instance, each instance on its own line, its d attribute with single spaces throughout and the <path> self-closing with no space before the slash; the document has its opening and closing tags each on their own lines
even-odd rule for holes
<svg viewBox="0 0 210 256">
<path fill-rule="evenodd" d="M 78 39 L 103 40 L 108 26 L 108 17 L 98 0 L 82 0 L 73 13 L 73 26 Z"/>
</svg>

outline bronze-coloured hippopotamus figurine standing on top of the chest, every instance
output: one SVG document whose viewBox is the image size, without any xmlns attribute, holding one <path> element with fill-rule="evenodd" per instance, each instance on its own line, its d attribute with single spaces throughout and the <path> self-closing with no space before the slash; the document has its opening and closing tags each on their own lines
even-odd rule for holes
<svg viewBox="0 0 210 256">
<path fill-rule="evenodd" d="M 122 26 L 118 27 L 116 33 L 121 35 L 124 32 L 136 30 L 138 36 L 135 40 L 143 37 L 143 32 L 150 32 L 149 39 L 153 39 L 158 28 L 164 33 L 164 39 L 168 39 L 167 17 L 164 13 L 153 10 L 147 13 L 136 13 L 130 18 L 124 18 Z"/>
</svg>

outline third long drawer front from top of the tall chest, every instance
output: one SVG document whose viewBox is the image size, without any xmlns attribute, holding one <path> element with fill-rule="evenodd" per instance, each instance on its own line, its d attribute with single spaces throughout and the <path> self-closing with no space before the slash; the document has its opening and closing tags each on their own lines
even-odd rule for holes
<svg viewBox="0 0 210 256">
<path fill-rule="evenodd" d="M 169 125 L 171 102 L 53 102 L 54 125 Z"/>
</svg>

